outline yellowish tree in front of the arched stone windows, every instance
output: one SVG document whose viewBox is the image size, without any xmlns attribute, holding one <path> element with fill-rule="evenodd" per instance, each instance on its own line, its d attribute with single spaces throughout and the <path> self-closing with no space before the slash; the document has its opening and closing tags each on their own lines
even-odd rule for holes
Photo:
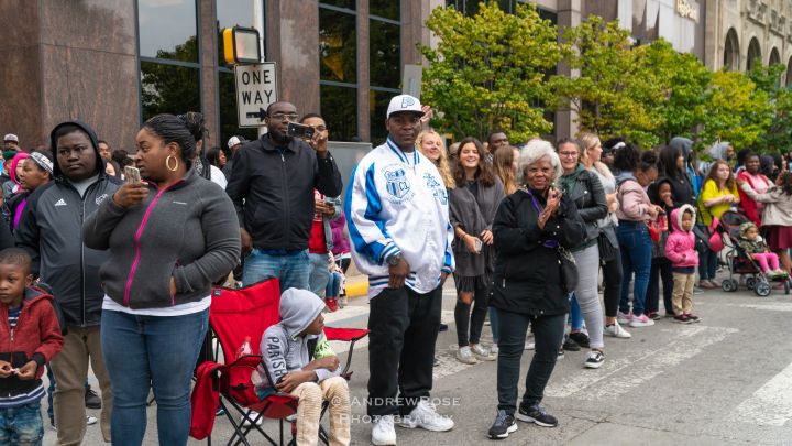
<svg viewBox="0 0 792 446">
<path fill-rule="evenodd" d="M 704 144 L 729 141 L 751 148 L 772 121 L 769 96 L 744 73 L 717 72 L 706 95 L 706 113 L 698 137 Z"/>
</svg>

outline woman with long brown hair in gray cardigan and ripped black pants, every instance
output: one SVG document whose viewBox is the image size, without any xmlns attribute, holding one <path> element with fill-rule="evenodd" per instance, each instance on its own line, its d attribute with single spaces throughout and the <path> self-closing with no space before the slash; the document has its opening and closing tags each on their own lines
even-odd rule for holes
<svg viewBox="0 0 792 446">
<path fill-rule="evenodd" d="M 495 357 L 479 341 L 487 312 L 495 263 L 492 222 L 506 194 L 501 178 L 493 173 L 492 166 L 486 162 L 484 146 L 479 140 L 465 138 L 460 142 L 454 167 L 457 187 L 450 189 L 449 205 L 451 225 L 455 235 L 454 320 L 459 341 L 457 360 L 463 363 L 492 361 Z"/>
</svg>

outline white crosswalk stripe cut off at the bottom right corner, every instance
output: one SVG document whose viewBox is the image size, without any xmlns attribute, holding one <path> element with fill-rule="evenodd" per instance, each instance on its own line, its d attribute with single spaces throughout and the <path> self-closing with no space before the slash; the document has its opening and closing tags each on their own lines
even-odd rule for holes
<svg viewBox="0 0 792 446">
<path fill-rule="evenodd" d="M 792 363 L 741 402 L 729 418 L 759 426 L 783 426 L 792 418 Z"/>
</svg>

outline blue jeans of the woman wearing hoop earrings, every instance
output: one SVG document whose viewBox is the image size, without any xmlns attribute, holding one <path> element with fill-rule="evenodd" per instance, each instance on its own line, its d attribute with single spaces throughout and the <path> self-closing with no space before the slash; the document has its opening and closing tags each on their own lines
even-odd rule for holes
<svg viewBox="0 0 792 446">
<path fill-rule="evenodd" d="M 102 312 L 102 353 L 113 389 L 113 445 L 143 443 L 148 389 L 157 403 L 160 444 L 187 444 L 190 379 L 208 326 L 208 309 L 170 317 Z"/>
</svg>

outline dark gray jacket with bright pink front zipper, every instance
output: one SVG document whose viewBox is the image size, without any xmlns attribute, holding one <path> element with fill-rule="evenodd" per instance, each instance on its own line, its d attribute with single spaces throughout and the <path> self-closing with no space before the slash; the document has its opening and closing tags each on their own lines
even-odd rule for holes
<svg viewBox="0 0 792 446">
<path fill-rule="evenodd" d="M 133 309 L 166 308 L 209 296 L 240 257 L 239 221 L 231 199 L 193 168 L 130 208 L 105 200 L 84 225 L 87 247 L 108 250 L 100 269 L 105 292 Z M 176 295 L 170 295 L 170 278 Z"/>
</svg>

